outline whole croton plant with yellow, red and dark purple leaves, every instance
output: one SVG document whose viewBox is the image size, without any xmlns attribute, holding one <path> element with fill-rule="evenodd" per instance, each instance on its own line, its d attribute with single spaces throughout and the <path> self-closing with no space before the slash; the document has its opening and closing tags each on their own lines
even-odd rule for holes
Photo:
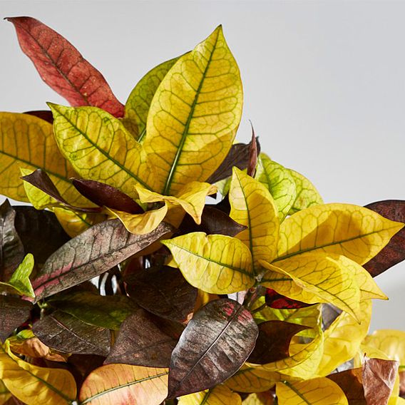
<svg viewBox="0 0 405 405">
<path fill-rule="evenodd" d="M 31 203 L 0 207 L 0 404 L 405 403 L 405 333 L 367 336 L 404 202 L 326 204 L 253 129 L 235 143 L 221 26 L 124 106 L 63 36 L 8 20 L 71 106 L 0 113 L 1 193 Z"/>
</svg>

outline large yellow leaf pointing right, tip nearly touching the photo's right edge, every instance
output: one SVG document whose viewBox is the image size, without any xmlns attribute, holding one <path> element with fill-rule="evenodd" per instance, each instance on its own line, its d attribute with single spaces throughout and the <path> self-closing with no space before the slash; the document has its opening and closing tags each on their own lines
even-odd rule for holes
<svg viewBox="0 0 405 405">
<path fill-rule="evenodd" d="M 278 257 L 274 262 L 304 252 L 327 252 L 364 265 L 402 227 L 401 222 L 387 220 L 357 205 L 316 205 L 282 222 Z"/>
</svg>

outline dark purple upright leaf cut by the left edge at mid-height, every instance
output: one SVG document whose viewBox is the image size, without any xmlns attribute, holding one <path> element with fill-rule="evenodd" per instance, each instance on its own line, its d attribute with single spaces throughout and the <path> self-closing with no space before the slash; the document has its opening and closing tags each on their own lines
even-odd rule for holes
<svg viewBox="0 0 405 405">
<path fill-rule="evenodd" d="M 16 231 L 16 212 L 9 200 L 0 205 L 0 281 L 9 281 L 24 259 L 24 246 Z"/>
</svg>

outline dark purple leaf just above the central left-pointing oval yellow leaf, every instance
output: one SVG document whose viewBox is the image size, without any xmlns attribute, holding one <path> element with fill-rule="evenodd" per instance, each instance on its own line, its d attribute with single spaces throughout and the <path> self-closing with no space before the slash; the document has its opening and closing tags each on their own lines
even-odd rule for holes
<svg viewBox="0 0 405 405">
<path fill-rule="evenodd" d="M 235 236 L 247 227 L 240 225 L 229 215 L 211 205 L 205 205 L 202 211 L 201 224 L 197 225 L 190 215 L 185 215 L 179 227 L 182 235 L 190 232 L 205 232 L 207 235 Z"/>
</svg>

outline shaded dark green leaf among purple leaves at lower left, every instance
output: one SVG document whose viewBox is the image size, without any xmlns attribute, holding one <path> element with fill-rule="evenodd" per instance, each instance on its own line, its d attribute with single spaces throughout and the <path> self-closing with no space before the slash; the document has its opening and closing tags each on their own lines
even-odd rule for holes
<svg viewBox="0 0 405 405">
<path fill-rule="evenodd" d="M 124 319 L 137 309 L 124 295 L 101 296 L 89 291 L 58 294 L 48 302 L 87 324 L 113 330 L 118 330 Z"/>
</svg>

